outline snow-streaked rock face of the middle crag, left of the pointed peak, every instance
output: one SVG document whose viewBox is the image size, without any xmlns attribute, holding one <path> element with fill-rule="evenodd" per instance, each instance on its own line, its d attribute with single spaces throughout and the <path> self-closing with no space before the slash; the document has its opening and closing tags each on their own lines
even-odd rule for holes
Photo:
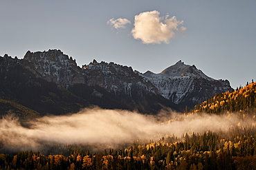
<svg viewBox="0 0 256 170">
<path fill-rule="evenodd" d="M 141 90 L 158 94 L 158 89 L 134 72 L 131 67 L 112 62 L 98 63 L 94 60 L 93 63 L 84 65 L 82 68 L 86 74 L 86 85 L 98 85 L 114 94 L 123 93 L 129 97 L 132 97 L 133 93 L 140 93 Z M 138 92 L 134 92 L 135 88 Z"/>
</svg>

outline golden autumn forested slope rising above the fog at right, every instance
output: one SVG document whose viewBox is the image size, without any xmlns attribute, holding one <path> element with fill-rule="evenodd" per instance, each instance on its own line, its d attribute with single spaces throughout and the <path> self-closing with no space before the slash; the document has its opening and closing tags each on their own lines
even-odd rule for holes
<svg viewBox="0 0 256 170">
<path fill-rule="evenodd" d="M 247 83 L 245 87 L 239 87 L 235 91 L 225 92 L 205 100 L 203 103 L 196 105 L 193 112 L 221 114 L 225 111 L 243 111 L 255 113 L 255 95 L 256 83 Z"/>
</svg>

